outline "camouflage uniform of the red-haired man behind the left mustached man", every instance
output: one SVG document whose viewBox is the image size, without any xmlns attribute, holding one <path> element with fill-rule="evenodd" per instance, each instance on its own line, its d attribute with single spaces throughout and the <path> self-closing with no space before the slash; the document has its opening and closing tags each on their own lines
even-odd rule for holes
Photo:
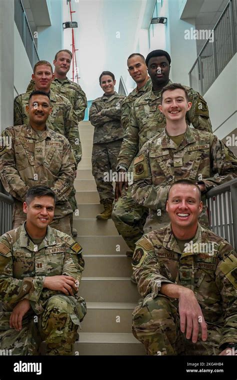
<svg viewBox="0 0 237 380">
<path fill-rule="evenodd" d="M 29 92 L 18 95 L 14 99 L 14 125 L 27 124 L 29 122 L 28 114 L 25 106 L 29 101 Z M 76 164 L 81 160 L 81 144 L 78 130 L 77 115 L 73 111 L 72 105 L 68 99 L 62 95 L 58 95 L 50 90 L 50 104 L 52 112 L 48 116 L 47 125 L 50 129 L 57 133 L 61 133 L 69 141 Z M 75 200 L 75 190 L 73 188 L 68 197 L 68 201 L 74 211 L 77 208 Z"/>
</svg>

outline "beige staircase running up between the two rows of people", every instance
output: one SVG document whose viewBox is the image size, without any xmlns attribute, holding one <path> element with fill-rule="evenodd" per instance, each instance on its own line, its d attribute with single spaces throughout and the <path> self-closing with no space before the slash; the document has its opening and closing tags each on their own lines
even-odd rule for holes
<svg viewBox="0 0 237 380">
<path fill-rule="evenodd" d="M 85 261 L 79 291 L 87 314 L 75 342 L 75 355 L 145 355 L 143 345 L 131 334 L 131 313 L 139 294 L 130 281 L 128 247 L 112 219 L 95 219 L 102 208 L 91 174 L 93 126 L 82 121 L 79 133 L 83 158 L 74 182 L 79 210 L 74 227 Z"/>
</svg>

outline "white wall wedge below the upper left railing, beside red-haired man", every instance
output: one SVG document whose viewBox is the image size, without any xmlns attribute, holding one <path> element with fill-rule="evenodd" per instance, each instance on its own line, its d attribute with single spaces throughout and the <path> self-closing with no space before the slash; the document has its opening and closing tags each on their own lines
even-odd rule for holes
<svg viewBox="0 0 237 380">
<path fill-rule="evenodd" d="M 33 70 L 14 23 L 14 97 L 26 91 Z M 17 91 L 17 92 L 16 92 Z"/>
</svg>

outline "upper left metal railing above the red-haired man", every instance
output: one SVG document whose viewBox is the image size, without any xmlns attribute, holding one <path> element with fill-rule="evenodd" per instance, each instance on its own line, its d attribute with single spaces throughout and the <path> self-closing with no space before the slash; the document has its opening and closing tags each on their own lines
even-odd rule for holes
<svg viewBox="0 0 237 380">
<path fill-rule="evenodd" d="M 19 7 L 21 8 L 21 15 L 17 13 L 17 9 Z M 14 0 L 14 21 L 25 47 L 30 64 L 33 68 L 34 64 L 39 61 L 39 56 L 21 0 Z M 30 39 L 32 46 L 27 44 L 27 40 L 29 41 Z M 31 51 L 28 51 L 28 48 L 30 48 Z"/>
</svg>

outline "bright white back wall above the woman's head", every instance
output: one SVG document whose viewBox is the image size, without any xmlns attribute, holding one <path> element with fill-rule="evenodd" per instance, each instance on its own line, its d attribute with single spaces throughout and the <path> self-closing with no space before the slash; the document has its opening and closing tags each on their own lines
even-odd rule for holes
<svg viewBox="0 0 237 380">
<path fill-rule="evenodd" d="M 119 78 L 127 76 L 126 59 L 133 44 L 141 0 L 72 1 L 72 19 L 78 22 L 75 43 L 79 84 L 91 100 L 102 95 L 98 77 L 103 70 L 112 71 L 118 88 Z M 63 21 L 69 20 L 68 6 L 63 2 Z M 71 49 L 71 29 L 64 30 L 64 48 Z M 118 34 L 120 33 L 120 34 Z M 117 36 L 119 36 L 117 38 Z M 71 71 L 68 73 L 71 78 Z"/>
</svg>

